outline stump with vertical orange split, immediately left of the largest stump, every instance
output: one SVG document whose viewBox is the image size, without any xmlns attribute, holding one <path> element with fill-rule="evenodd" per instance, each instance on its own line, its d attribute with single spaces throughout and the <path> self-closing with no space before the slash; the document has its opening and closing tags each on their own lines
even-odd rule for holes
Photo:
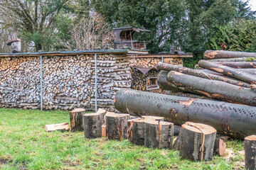
<svg viewBox="0 0 256 170">
<path fill-rule="evenodd" d="M 144 147 L 169 148 L 174 139 L 174 123 L 149 120 L 144 126 Z"/>
</svg>

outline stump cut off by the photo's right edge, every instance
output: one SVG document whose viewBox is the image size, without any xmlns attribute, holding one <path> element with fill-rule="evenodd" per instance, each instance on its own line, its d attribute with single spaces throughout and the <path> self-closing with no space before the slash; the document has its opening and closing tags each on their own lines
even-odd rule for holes
<svg viewBox="0 0 256 170">
<path fill-rule="evenodd" d="M 256 169 L 256 135 L 245 137 L 245 169 Z"/>
</svg>

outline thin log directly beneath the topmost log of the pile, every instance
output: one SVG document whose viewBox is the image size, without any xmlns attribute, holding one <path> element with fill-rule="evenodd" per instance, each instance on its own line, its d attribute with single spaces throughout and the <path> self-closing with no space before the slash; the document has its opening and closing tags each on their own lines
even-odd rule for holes
<svg viewBox="0 0 256 170">
<path fill-rule="evenodd" d="M 225 65 L 235 69 L 250 69 L 256 68 L 256 62 L 213 62 L 219 65 Z"/>
</svg>

